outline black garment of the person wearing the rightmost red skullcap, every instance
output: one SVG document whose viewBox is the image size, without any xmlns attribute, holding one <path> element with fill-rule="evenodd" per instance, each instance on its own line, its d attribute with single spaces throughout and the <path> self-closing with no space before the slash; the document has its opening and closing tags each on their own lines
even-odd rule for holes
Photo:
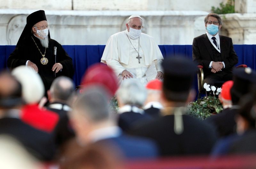
<svg viewBox="0 0 256 169">
<path fill-rule="evenodd" d="M 220 137 L 236 133 L 236 116 L 237 109 L 229 108 L 223 110 L 220 114 L 212 115 L 205 121 L 215 126 Z"/>
</svg>

